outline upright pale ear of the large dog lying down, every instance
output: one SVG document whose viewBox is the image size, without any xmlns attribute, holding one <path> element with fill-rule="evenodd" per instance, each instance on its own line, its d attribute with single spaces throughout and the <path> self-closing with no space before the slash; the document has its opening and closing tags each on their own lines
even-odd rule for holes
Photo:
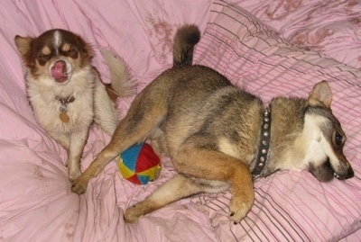
<svg viewBox="0 0 361 242">
<path fill-rule="evenodd" d="M 329 84 L 326 81 L 322 81 L 313 86 L 307 102 L 311 106 L 323 105 L 329 108 L 332 103 L 332 92 Z"/>
</svg>

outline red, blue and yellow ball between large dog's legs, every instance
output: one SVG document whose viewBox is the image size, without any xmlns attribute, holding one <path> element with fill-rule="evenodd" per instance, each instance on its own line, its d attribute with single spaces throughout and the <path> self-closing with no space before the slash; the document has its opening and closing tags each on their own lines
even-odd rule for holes
<svg viewBox="0 0 361 242">
<path fill-rule="evenodd" d="M 161 160 L 147 144 L 136 144 L 119 155 L 118 168 L 123 177 L 134 184 L 148 184 L 158 178 Z"/>
</svg>

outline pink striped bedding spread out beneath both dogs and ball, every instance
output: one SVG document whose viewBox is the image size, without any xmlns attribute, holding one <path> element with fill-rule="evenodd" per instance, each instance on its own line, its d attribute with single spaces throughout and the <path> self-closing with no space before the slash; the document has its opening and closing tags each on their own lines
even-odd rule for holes
<svg viewBox="0 0 361 242">
<path fill-rule="evenodd" d="M 349 16 L 359 18 L 360 5 L 355 1 L 291 4 L 270 0 L 234 4 L 221 0 L 1 1 L 0 241 L 360 240 L 361 71 L 356 69 L 359 51 L 348 47 L 360 49 L 361 26 L 347 22 Z M 321 13 L 320 7 L 327 11 Z M 310 45 L 318 27 L 343 22 L 346 27 L 332 28 L 333 34 Z M 184 199 L 136 224 L 125 224 L 126 207 L 174 174 L 168 157 L 162 157 L 162 174 L 152 184 L 130 184 L 112 162 L 91 181 L 87 193 L 71 193 L 66 152 L 36 124 L 26 100 L 14 36 L 36 36 L 51 28 L 75 31 L 94 45 L 94 65 L 105 82 L 109 77 L 99 48 L 112 49 L 125 58 L 140 91 L 171 67 L 172 37 L 183 23 L 196 23 L 202 32 L 195 63 L 216 68 L 265 102 L 277 94 L 306 96 L 316 82 L 329 80 L 334 90 L 332 107 L 346 130 L 345 152 L 356 177 L 321 184 L 307 172 L 282 172 L 257 180 L 255 206 L 239 225 L 227 217 L 229 193 Z M 345 37 L 347 33 L 350 37 Z M 118 101 L 122 116 L 132 100 Z M 108 140 L 93 127 L 83 169 Z"/>
</svg>

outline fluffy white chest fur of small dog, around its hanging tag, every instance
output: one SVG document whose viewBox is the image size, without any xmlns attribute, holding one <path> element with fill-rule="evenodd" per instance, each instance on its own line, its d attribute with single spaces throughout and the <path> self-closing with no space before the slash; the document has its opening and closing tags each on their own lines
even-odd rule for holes
<svg viewBox="0 0 361 242">
<path fill-rule="evenodd" d="M 91 69 L 86 68 L 74 73 L 67 85 L 58 85 L 50 77 L 32 79 L 28 77 L 27 93 L 36 121 L 44 130 L 52 132 L 71 132 L 80 127 L 88 127 L 94 117 L 93 91 L 95 77 Z M 69 122 L 60 120 L 60 107 L 63 105 L 57 97 L 73 96 L 74 102 L 65 104 Z"/>
</svg>

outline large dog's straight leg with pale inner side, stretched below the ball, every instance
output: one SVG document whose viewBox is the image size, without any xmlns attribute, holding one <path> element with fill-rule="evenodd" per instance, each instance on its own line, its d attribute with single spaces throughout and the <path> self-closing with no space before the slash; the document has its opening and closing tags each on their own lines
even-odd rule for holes
<svg viewBox="0 0 361 242">
<path fill-rule="evenodd" d="M 204 188 L 183 175 L 175 175 L 162 184 L 142 202 L 125 211 L 125 222 L 134 223 L 142 215 L 158 210 L 165 205 L 190 195 L 204 192 Z"/>
</svg>

